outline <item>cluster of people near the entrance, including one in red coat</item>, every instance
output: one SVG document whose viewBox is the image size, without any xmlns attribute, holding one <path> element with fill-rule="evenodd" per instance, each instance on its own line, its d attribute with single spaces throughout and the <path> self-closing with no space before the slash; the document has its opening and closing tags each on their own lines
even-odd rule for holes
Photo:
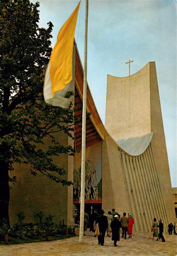
<svg viewBox="0 0 177 256">
<path fill-rule="evenodd" d="M 98 213 L 98 212 L 96 212 Z M 128 238 L 132 238 L 132 230 L 134 219 L 131 214 L 128 214 L 126 217 L 126 212 L 123 213 L 123 216 L 120 217 L 120 214 L 112 209 L 112 212 L 109 211 L 108 215 L 104 215 L 104 211 L 100 211 L 100 215 L 94 214 L 95 219 L 95 236 L 98 236 L 98 244 L 104 245 L 105 243 L 105 233 L 107 230 L 108 237 L 112 232 L 112 241 L 114 241 L 114 246 L 117 246 L 117 241 L 120 241 L 120 229 L 122 228 L 122 237 L 127 239 L 127 232 L 129 234 Z"/>
</svg>

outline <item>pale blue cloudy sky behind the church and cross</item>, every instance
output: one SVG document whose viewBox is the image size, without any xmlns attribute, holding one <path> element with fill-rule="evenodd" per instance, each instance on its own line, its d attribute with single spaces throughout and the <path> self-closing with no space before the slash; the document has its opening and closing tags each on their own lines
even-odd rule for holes
<svg viewBox="0 0 177 256">
<path fill-rule="evenodd" d="M 31 0 L 35 3 L 36 1 Z M 53 23 L 52 47 L 78 0 L 39 0 L 40 27 Z M 84 63 L 85 0 L 75 40 Z M 176 1 L 89 0 L 87 81 L 105 124 L 107 75 L 128 76 L 155 61 L 172 187 L 177 187 Z"/>
</svg>

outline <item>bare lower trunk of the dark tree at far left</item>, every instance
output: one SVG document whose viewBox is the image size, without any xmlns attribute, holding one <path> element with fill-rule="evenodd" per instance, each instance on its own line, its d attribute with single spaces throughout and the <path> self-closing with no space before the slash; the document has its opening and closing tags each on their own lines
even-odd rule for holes
<svg viewBox="0 0 177 256">
<path fill-rule="evenodd" d="M 7 219 L 7 223 L 10 225 L 8 212 L 10 199 L 8 164 L 0 161 L 0 166 L 0 221 Z"/>
</svg>

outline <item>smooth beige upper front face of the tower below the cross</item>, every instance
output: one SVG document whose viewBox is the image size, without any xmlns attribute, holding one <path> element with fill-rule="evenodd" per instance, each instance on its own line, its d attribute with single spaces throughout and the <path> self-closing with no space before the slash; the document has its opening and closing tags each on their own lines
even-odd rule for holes
<svg viewBox="0 0 177 256">
<path fill-rule="evenodd" d="M 133 138 L 150 133 L 150 114 L 148 64 L 128 77 L 108 75 L 105 127 L 113 139 Z"/>
</svg>

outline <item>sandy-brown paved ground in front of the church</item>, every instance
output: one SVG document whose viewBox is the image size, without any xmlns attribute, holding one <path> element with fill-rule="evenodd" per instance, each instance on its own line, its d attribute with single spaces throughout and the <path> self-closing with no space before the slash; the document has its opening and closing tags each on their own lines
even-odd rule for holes
<svg viewBox="0 0 177 256">
<path fill-rule="evenodd" d="M 77 234 L 77 231 L 76 231 Z M 117 242 L 105 236 L 105 245 L 98 245 L 93 233 L 87 231 L 84 244 L 79 244 L 79 236 L 50 242 L 34 242 L 16 245 L 1 245 L 0 256 L 109 256 L 109 255 L 174 255 L 176 256 L 177 236 L 165 235 L 166 242 L 156 242 L 151 239 L 152 234 L 135 232 L 131 239 Z"/>
</svg>

